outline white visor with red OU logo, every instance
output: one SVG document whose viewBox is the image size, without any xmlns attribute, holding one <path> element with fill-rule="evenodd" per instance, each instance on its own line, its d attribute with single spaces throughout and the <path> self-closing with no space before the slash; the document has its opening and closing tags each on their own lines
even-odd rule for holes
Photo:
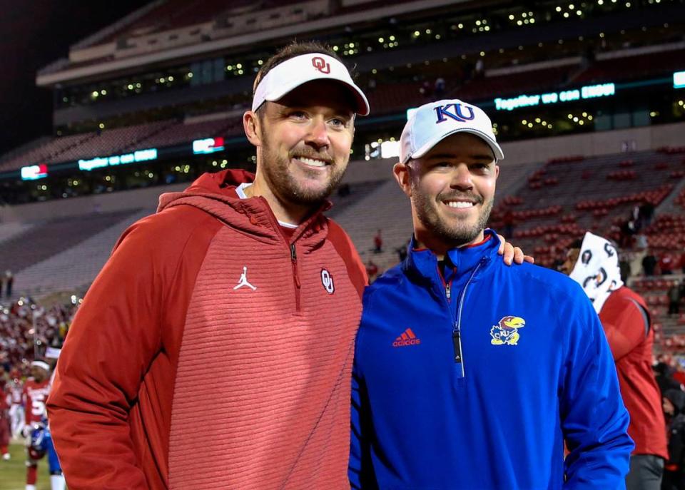
<svg viewBox="0 0 685 490">
<path fill-rule="evenodd" d="M 300 54 L 271 68 L 255 90 L 252 110 L 256 111 L 265 101 L 278 101 L 286 93 L 313 80 L 336 80 L 344 83 L 355 96 L 355 112 L 360 116 L 367 116 L 369 113 L 369 101 L 362 89 L 352 81 L 347 67 L 324 53 Z"/>
</svg>

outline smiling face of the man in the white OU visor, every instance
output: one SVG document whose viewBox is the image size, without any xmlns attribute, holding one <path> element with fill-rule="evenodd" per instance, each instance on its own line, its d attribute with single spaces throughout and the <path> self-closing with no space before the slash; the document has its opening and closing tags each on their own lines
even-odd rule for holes
<svg viewBox="0 0 685 490">
<path fill-rule="evenodd" d="M 350 160 L 354 107 L 342 84 L 312 81 L 265 102 L 259 115 L 245 113 L 245 133 L 257 147 L 260 193 L 300 210 L 328 197 Z"/>
</svg>

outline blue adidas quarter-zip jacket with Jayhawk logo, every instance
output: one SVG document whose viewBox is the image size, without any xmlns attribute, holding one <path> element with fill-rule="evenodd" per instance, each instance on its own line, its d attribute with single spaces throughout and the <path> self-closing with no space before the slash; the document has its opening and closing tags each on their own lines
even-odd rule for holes
<svg viewBox="0 0 685 490">
<path fill-rule="evenodd" d="M 444 280 L 414 245 L 364 295 L 352 488 L 624 489 L 628 413 L 581 287 L 507 267 L 491 230 L 447 252 Z"/>
</svg>

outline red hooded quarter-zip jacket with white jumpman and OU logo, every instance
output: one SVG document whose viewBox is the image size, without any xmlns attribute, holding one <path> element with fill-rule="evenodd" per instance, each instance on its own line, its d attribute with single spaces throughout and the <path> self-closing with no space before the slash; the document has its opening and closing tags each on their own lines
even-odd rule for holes
<svg viewBox="0 0 685 490">
<path fill-rule="evenodd" d="M 48 404 L 70 490 L 349 488 L 365 269 L 323 209 L 286 241 L 252 179 L 162 195 L 88 290 Z"/>
</svg>

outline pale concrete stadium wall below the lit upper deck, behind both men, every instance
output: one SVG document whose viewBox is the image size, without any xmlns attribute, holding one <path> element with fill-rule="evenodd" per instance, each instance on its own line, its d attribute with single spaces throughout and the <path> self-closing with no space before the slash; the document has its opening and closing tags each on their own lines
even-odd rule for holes
<svg viewBox="0 0 685 490">
<path fill-rule="evenodd" d="M 685 123 L 601 131 L 581 135 L 557 136 L 503 143 L 504 165 L 543 162 L 568 155 L 607 155 L 621 153 L 624 143 L 634 142 L 637 151 L 656 150 L 663 146 L 685 146 Z M 627 153 L 626 153 L 627 155 Z M 350 184 L 385 180 L 392 176 L 392 165 L 397 160 L 356 160 L 350 162 L 343 182 Z M 0 223 L 31 222 L 52 218 L 83 215 L 96 210 L 108 211 L 149 208 L 154 210 L 161 193 L 178 192 L 187 183 L 163 187 L 126 190 L 111 194 L 86 195 L 80 198 L 50 200 L 0 208 Z"/>
</svg>

